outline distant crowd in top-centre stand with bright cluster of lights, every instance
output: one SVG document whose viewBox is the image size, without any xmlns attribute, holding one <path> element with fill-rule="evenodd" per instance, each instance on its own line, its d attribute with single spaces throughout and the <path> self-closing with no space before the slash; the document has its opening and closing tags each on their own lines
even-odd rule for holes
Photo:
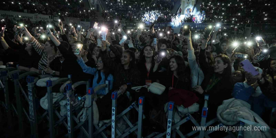
<svg viewBox="0 0 276 138">
<path fill-rule="evenodd" d="M 170 22 L 174 14 L 171 12 L 176 0 L 154 1 L 104 1 L 107 9 L 103 11 L 105 19 L 120 19 L 125 21 L 159 21 Z"/>
</svg>

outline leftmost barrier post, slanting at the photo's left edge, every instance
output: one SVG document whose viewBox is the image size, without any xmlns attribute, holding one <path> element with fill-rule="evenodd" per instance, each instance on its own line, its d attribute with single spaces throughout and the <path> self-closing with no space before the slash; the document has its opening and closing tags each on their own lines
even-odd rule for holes
<svg viewBox="0 0 276 138">
<path fill-rule="evenodd" d="M 6 113 L 8 118 L 8 127 L 12 127 L 12 116 L 11 116 L 11 104 L 10 98 L 8 93 L 8 79 L 7 79 L 7 71 L 1 72 L 2 83 L 4 86 L 4 97 L 5 97 L 5 106 L 6 106 Z"/>
</svg>

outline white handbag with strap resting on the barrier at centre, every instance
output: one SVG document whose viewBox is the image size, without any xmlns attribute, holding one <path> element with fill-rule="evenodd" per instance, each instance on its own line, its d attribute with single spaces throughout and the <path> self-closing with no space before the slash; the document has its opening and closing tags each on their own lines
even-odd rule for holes
<svg viewBox="0 0 276 138">
<path fill-rule="evenodd" d="M 146 87 L 148 89 L 148 91 L 150 91 L 151 93 L 154 93 L 154 94 L 158 94 L 158 95 L 161 95 L 166 89 L 166 87 L 164 85 L 157 83 L 157 82 L 153 82 L 151 84 L 147 84 L 144 86 L 133 87 L 131 89 L 138 92 L 142 87 Z"/>
</svg>

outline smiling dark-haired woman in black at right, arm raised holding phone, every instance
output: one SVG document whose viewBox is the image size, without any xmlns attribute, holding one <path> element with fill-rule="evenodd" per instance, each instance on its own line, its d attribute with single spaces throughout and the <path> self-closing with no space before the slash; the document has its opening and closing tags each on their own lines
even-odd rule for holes
<svg viewBox="0 0 276 138">
<path fill-rule="evenodd" d="M 209 39 L 208 39 L 209 40 Z M 208 94 L 208 117 L 207 120 L 216 117 L 216 111 L 223 100 L 232 98 L 233 84 L 231 82 L 231 65 L 228 56 L 220 54 L 215 58 L 214 66 L 206 61 L 206 46 L 208 40 L 201 40 L 202 46 L 199 52 L 199 65 L 204 74 L 201 86 L 196 86 L 195 91 L 204 102 L 204 94 Z M 201 103 L 201 106 L 203 103 Z"/>
</svg>

